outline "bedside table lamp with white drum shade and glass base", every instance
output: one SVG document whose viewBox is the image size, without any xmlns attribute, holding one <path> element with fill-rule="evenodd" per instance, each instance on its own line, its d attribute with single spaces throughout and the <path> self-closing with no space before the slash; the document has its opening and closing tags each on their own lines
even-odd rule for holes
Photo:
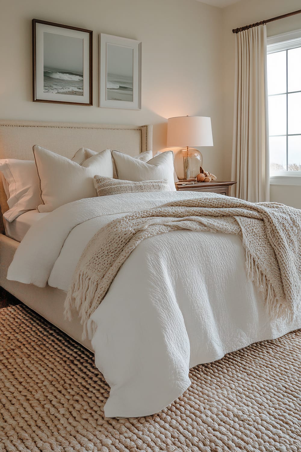
<svg viewBox="0 0 301 452">
<path fill-rule="evenodd" d="M 179 180 L 195 178 L 203 164 L 203 156 L 190 146 L 213 146 L 211 118 L 178 116 L 167 120 L 167 147 L 184 147 L 175 155 L 175 170 Z"/>
</svg>

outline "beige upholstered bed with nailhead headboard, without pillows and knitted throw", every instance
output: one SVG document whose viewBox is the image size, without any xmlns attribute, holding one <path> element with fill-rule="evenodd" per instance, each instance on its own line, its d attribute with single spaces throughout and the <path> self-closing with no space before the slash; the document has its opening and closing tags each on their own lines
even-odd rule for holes
<svg viewBox="0 0 301 452">
<path fill-rule="evenodd" d="M 0 157 L 30 159 L 33 143 L 60 153 L 64 142 L 68 157 L 79 146 L 99 149 L 100 140 L 102 149 L 107 146 L 132 155 L 152 147 L 150 126 L 2 122 L 0 133 Z M 36 221 L 20 246 L 0 235 L 0 285 L 94 351 L 96 365 L 111 386 L 105 406 L 108 417 L 160 411 L 190 386 L 189 368 L 301 326 L 301 315 L 293 320 L 269 315 L 245 271 L 240 236 L 208 230 L 175 230 L 143 240 L 121 265 L 93 312 L 89 339 L 82 339 L 83 327 L 75 313 L 70 322 L 65 320 L 64 301 L 76 263 L 102 226 L 129 212 L 202 197 L 225 199 L 214 193 L 170 191 L 81 199 Z M 1 208 L 4 212 L 3 190 Z M 30 221 L 34 220 L 25 218 L 23 228 Z M 49 242 L 50 235 L 62 245 Z M 35 240 L 37 245 L 31 248 Z M 23 249 L 20 271 L 24 280 L 34 284 L 6 279 L 17 249 L 18 253 Z M 43 268 L 45 256 L 49 258 L 47 270 Z M 35 262 L 37 274 L 32 273 Z"/>
</svg>

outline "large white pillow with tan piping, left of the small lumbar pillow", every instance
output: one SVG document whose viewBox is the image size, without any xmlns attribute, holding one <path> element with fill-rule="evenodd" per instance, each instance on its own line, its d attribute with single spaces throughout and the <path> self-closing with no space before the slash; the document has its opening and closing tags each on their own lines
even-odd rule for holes
<svg viewBox="0 0 301 452">
<path fill-rule="evenodd" d="M 95 174 L 113 177 L 109 149 L 93 155 L 82 165 L 37 145 L 32 149 L 40 180 L 39 212 L 51 212 L 68 202 L 95 196 Z"/>
</svg>

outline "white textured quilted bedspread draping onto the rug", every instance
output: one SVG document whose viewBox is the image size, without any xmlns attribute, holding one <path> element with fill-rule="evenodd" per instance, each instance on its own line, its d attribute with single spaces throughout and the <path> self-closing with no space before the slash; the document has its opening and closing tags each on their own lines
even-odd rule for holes
<svg viewBox="0 0 301 452">
<path fill-rule="evenodd" d="M 100 227 L 128 212 L 199 196 L 217 195 L 129 193 L 61 206 L 28 231 L 8 278 L 67 291 Z M 146 239 L 90 320 L 95 363 L 111 386 L 105 415 L 156 413 L 190 386 L 190 367 L 300 326 L 301 319 L 269 318 L 246 277 L 237 235 L 174 231 Z"/>
</svg>

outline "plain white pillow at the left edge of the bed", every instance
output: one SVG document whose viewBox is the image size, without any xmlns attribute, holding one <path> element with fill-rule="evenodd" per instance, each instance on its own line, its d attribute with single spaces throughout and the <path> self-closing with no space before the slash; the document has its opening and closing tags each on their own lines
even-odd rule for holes
<svg viewBox="0 0 301 452">
<path fill-rule="evenodd" d="M 11 223 L 40 203 L 39 179 L 33 160 L 0 160 L 0 171 L 9 210 L 3 217 Z"/>
</svg>

